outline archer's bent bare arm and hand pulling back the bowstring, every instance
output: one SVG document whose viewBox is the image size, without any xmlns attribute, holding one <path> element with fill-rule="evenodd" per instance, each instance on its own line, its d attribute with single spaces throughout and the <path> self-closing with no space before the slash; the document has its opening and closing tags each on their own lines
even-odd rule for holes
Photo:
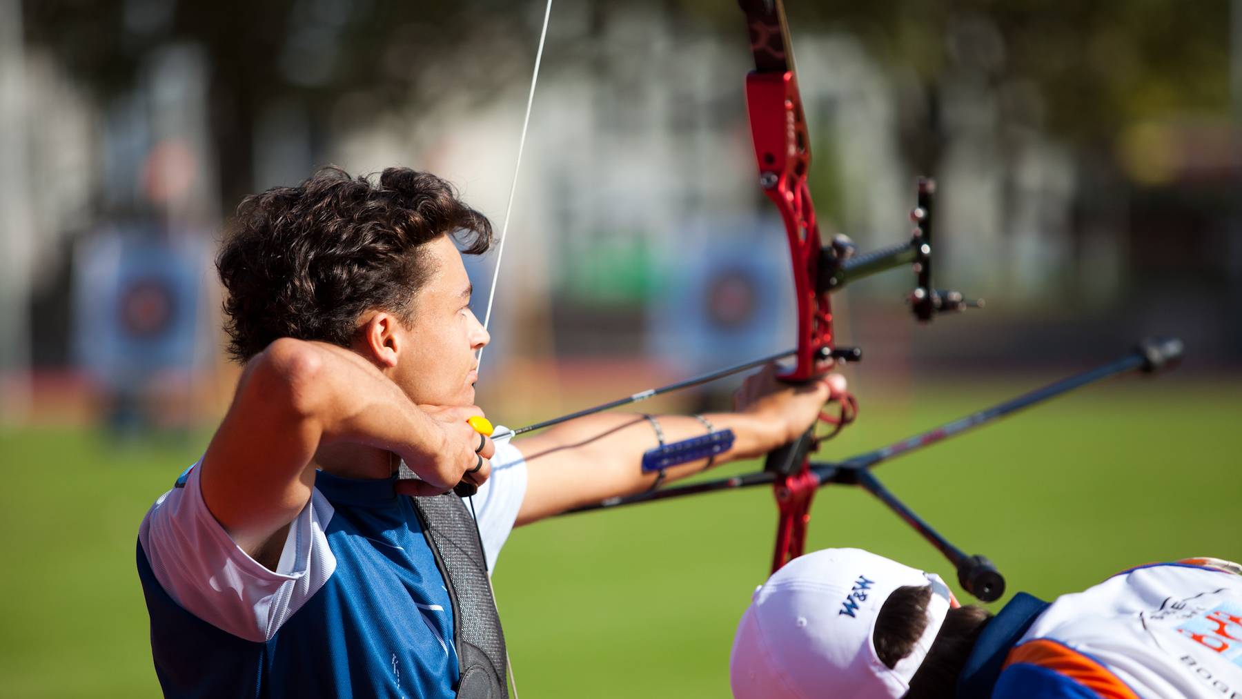
<svg viewBox="0 0 1242 699">
<path fill-rule="evenodd" d="M 253 555 L 281 539 L 310 499 L 323 449 L 366 444 L 392 452 L 446 490 L 474 461 L 478 438 L 466 418 L 477 412 L 416 406 L 358 354 L 282 338 L 246 365 L 199 467 L 204 502 Z"/>
</svg>

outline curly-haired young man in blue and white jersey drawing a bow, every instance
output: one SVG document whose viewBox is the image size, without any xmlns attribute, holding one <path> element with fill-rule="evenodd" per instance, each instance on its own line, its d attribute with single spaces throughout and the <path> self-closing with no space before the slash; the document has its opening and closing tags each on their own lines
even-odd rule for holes
<svg viewBox="0 0 1242 699">
<path fill-rule="evenodd" d="M 738 412 L 601 413 L 493 443 L 466 422 L 488 335 L 458 252 L 491 243 L 482 215 L 409 169 L 328 169 L 242 202 L 217 267 L 245 370 L 139 530 L 166 695 L 507 697 L 488 571 L 513 526 L 712 464 L 643 473 L 661 441 L 729 428 L 717 461 L 761 454 L 830 397 L 769 368 Z M 397 479 L 402 462 L 420 479 Z M 462 480 L 474 515 L 450 492 Z"/>
</svg>

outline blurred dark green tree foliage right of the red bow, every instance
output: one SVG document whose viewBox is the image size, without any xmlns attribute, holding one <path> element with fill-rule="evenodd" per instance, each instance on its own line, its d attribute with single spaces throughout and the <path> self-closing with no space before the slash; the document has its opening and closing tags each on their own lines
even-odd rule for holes
<svg viewBox="0 0 1242 699">
<path fill-rule="evenodd" d="M 733 2 L 671 2 L 723 30 L 738 22 Z M 1087 149 L 1112 148 L 1128 124 L 1230 112 L 1228 0 L 825 0 L 790 1 L 786 11 L 795 48 L 800 31 L 838 30 L 913 70 L 924 104 L 907 112 L 923 115 L 923 133 L 936 130 L 938 86 L 950 72 L 994 87 L 1030 82 L 1040 99 L 1013 94 L 1002 118 L 1042 122 Z M 907 140 L 915 169 L 932 171 L 934 144 Z"/>
</svg>

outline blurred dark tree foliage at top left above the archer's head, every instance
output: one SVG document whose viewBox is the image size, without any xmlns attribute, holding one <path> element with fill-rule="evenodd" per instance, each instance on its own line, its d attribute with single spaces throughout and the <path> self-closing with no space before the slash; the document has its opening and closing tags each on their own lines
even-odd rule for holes
<svg viewBox="0 0 1242 699">
<path fill-rule="evenodd" d="M 144 58 L 171 42 L 200 46 L 211 65 L 210 124 L 224 210 L 253 191 L 255 125 L 265 106 L 303 104 L 312 138 L 338 99 L 365 93 L 375 112 L 404 104 L 419 82 L 455 72 L 486 94 L 525 74 L 494 55 L 460 55 L 479 31 L 517 32 L 524 15 L 502 1 L 385 0 L 27 0 L 27 38 L 52 50 L 102 101 L 129 89 Z M 525 10 L 525 7 L 518 7 Z M 435 61 L 436 70 L 427 70 Z M 525 78 L 522 78 L 525 79 Z"/>
</svg>

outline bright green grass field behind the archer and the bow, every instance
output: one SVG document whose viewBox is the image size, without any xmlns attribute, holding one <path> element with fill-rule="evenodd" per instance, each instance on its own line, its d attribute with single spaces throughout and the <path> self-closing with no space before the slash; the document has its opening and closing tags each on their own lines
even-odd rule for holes
<svg viewBox="0 0 1242 699">
<path fill-rule="evenodd" d="M 879 446 L 1035 384 L 923 389 L 889 404 L 864 396 L 858 425 L 825 456 Z M 0 697 L 158 695 L 135 534 L 204 443 L 0 431 Z M 1088 389 L 877 474 L 955 544 L 990 556 L 1010 592 L 1056 596 L 1138 562 L 1242 559 L 1240 453 L 1242 384 L 1170 376 Z M 951 577 L 861 490 L 823 489 L 812 514 L 812 549 L 863 546 Z M 727 697 L 733 628 L 765 577 L 774 523 L 770 492 L 756 489 L 514 531 L 496 589 L 519 692 Z"/>
</svg>

